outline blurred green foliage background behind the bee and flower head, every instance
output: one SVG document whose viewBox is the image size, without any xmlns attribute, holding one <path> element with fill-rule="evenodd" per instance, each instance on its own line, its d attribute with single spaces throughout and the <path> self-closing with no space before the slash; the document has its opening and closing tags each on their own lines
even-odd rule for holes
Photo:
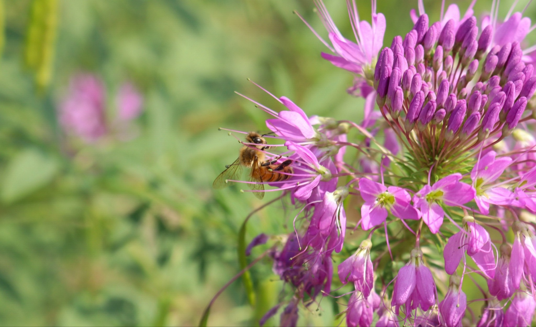
<svg viewBox="0 0 536 327">
<path fill-rule="evenodd" d="M 358 3 L 370 20 L 370 3 Z M 326 4 L 352 39 L 344 2 Z M 425 1 L 432 21 L 439 5 Z M 476 11 L 488 7 L 482 1 Z M 309 115 L 360 121 L 363 101 L 346 93 L 351 74 L 322 60 L 327 49 L 293 14 L 325 36 L 313 8 L 305 0 L 2 2 L 1 325 L 198 324 L 240 270 L 243 219 L 277 196 L 211 188 L 240 148 L 218 127 L 266 131 L 267 115 L 234 91 L 281 110 L 251 78 Z M 411 29 L 411 8 L 416 1 L 378 2 L 386 45 Z M 134 137 L 86 143 L 62 130 L 58 106 L 80 72 L 103 80 L 107 117 L 122 83 L 138 88 L 144 104 Z M 246 240 L 288 233 L 294 214 L 281 203 L 260 211 Z M 281 299 L 268 259 L 252 278 L 256 307 L 234 283 L 209 325 L 250 325 Z M 311 309 L 307 324 L 333 324 L 326 303 L 323 316 Z"/>
</svg>

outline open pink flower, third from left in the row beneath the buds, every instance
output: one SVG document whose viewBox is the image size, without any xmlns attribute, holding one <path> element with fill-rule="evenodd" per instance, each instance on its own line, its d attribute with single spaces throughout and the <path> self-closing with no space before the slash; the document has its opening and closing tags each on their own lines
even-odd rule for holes
<svg viewBox="0 0 536 327">
<path fill-rule="evenodd" d="M 512 159 L 502 157 L 495 160 L 497 153 L 489 151 L 482 155 L 477 165 L 471 170 L 471 180 L 476 195 L 474 197 L 480 212 L 488 214 L 489 205 L 508 205 L 512 202 L 513 193 L 502 187 L 494 187 L 493 183 L 510 166 Z M 489 185 L 492 184 L 492 185 Z"/>
</svg>

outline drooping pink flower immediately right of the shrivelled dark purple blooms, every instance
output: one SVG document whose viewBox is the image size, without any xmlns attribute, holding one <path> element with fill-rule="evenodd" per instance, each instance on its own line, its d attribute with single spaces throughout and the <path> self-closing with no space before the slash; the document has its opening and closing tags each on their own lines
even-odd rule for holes
<svg viewBox="0 0 536 327">
<path fill-rule="evenodd" d="M 370 248 L 372 243 L 369 239 L 363 240 L 358 250 L 337 269 L 341 283 L 352 281 L 355 289 L 362 292 L 365 297 L 370 295 L 374 288 L 374 271 L 370 261 Z"/>
</svg>

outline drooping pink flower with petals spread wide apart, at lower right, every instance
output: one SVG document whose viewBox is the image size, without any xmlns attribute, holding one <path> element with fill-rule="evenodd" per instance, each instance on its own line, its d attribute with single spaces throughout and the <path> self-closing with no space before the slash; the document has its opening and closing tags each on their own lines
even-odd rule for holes
<svg viewBox="0 0 536 327">
<path fill-rule="evenodd" d="M 463 221 L 463 231 L 449 237 L 443 250 L 446 273 L 455 273 L 464 252 L 467 252 L 480 270 L 489 278 L 493 278 L 495 276 L 495 256 L 489 233 L 478 225 L 473 217 L 466 216 Z"/>
</svg>

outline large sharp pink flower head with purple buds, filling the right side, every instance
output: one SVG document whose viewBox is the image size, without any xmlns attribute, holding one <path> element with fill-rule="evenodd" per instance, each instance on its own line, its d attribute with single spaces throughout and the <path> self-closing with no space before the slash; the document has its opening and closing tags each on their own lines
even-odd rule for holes
<svg viewBox="0 0 536 327">
<path fill-rule="evenodd" d="M 494 1 L 480 21 L 472 5 L 461 16 L 452 4 L 432 23 L 419 1 L 413 29 L 384 44 L 386 20 L 375 1 L 371 24 L 347 1 L 355 42 L 322 1 L 316 5 L 329 42 L 313 32 L 332 51 L 322 57 L 354 74 L 348 92 L 366 99 L 364 120 L 308 117 L 285 97 L 274 96 L 288 109 L 280 112 L 250 99 L 273 116 L 267 128 L 286 148 L 263 151 L 268 160 L 292 162 L 290 176 L 268 183 L 276 187 L 270 191 L 301 208 L 294 231 L 272 250 L 273 270 L 293 292 L 262 323 L 285 304 L 281 324 L 296 325 L 300 302 L 307 307 L 319 295 L 340 295 L 333 285 L 351 284 L 348 326 L 531 325 L 530 19 L 512 8 L 501 21 Z M 360 157 L 347 158 L 348 148 Z M 346 213 L 357 220 L 347 223 Z M 359 227 L 347 237 L 347 228 Z M 342 255 L 348 251 L 355 253 Z M 468 298 L 466 287 L 482 295 Z M 470 301 L 481 301 L 480 315 L 466 314 Z"/>
</svg>

